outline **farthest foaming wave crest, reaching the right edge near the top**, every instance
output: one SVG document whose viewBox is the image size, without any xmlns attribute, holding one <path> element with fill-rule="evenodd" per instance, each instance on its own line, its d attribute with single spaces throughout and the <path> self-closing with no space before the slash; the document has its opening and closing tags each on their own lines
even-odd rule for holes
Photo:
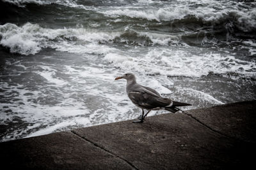
<svg viewBox="0 0 256 170">
<path fill-rule="evenodd" d="M 134 19 L 143 19 L 148 21 L 157 21 L 164 24 L 169 22 L 172 27 L 177 24 L 195 25 L 195 30 L 198 29 L 196 25 L 214 27 L 218 30 L 221 27 L 230 27 L 236 31 L 253 32 L 256 30 L 256 10 L 239 10 L 221 9 L 214 10 L 213 8 L 189 8 L 182 6 L 182 8 L 112 8 L 107 11 L 100 11 L 104 15 L 112 18 L 129 17 Z M 163 23 L 162 23 L 163 22 Z M 200 28 L 199 27 L 199 28 Z M 181 27 L 182 28 L 182 27 Z"/>
</svg>

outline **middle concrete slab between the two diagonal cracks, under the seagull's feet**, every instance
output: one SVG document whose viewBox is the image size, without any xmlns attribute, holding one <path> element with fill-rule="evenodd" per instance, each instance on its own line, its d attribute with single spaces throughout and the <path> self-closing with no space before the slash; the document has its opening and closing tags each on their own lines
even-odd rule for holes
<svg viewBox="0 0 256 170">
<path fill-rule="evenodd" d="M 74 132 L 122 155 L 138 169 L 232 169 L 249 163 L 244 155 L 251 149 L 182 113 L 148 117 L 143 124 L 118 122 Z"/>
</svg>

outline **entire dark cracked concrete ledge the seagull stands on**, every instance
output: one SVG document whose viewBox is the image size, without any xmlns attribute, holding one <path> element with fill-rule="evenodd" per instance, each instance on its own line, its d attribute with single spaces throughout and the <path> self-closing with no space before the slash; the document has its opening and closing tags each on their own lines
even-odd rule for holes
<svg viewBox="0 0 256 170">
<path fill-rule="evenodd" d="M 0 143 L 8 169 L 253 167 L 256 101 L 168 113 Z"/>
</svg>

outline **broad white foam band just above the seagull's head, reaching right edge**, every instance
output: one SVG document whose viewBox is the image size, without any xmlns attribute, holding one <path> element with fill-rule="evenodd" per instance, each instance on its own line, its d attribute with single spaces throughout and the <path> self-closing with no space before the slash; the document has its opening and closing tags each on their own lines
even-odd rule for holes
<svg viewBox="0 0 256 170">
<path fill-rule="evenodd" d="M 253 61 L 236 59 L 227 53 L 209 52 L 197 55 L 166 48 L 155 48 L 140 57 L 108 53 L 104 59 L 125 71 L 165 76 L 200 77 L 209 73 L 236 73 L 240 76 L 254 77 L 255 69 L 253 68 L 256 67 Z"/>
</svg>

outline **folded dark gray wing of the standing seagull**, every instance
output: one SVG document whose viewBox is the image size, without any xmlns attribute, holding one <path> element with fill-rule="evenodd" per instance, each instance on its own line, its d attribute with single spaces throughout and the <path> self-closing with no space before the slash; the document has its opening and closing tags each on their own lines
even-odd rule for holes
<svg viewBox="0 0 256 170">
<path fill-rule="evenodd" d="M 147 92 L 131 91 L 129 92 L 128 96 L 132 103 L 136 104 L 140 108 L 145 108 L 148 110 L 166 107 L 172 103 L 170 99 L 155 96 L 150 93 L 148 94 Z"/>
</svg>

